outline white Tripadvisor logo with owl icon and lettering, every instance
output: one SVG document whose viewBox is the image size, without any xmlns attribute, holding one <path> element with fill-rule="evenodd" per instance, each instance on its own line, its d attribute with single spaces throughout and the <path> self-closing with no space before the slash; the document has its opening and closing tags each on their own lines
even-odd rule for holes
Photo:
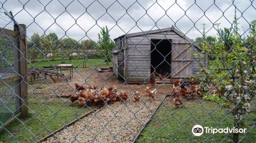
<svg viewBox="0 0 256 143">
<path fill-rule="evenodd" d="M 246 129 L 238 129 L 238 128 L 212 128 L 212 127 L 202 127 L 201 125 L 195 125 L 193 128 L 192 128 L 192 133 L 195 135 L 195 136 L 201 136 L 204 132 L 205 133 L 212 133 L 212 134 L 215 134 L 215 133 L 245 133 L 245 130 Z"/>
</svg>

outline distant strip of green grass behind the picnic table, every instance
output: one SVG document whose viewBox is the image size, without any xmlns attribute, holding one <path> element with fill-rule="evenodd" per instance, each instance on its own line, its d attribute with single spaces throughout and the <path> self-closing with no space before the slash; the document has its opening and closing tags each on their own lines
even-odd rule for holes
<svg viewBox="0 0 256 143">
<path fill-rule="evenodd" d="M 55 58 L 54 61 L 51 61 L 49 59 L 46 60 L 37 60 L 37 62 L 33 62 L 33 66 L 35 66 L 35 68 L 42 68 L 42 66 L 53 66 L 53 65 L 57 65 L 57 64 L 73 64 L 75 67 L 83 67 L 83 59 L 73 59 L 71 61 L 65 59 L 65 60 L 62 60 L 61 58 Z M 106 64 L 106 62 L 104 62 L 103 59 L 88 59 L 86 60 L 86 67 L 109 67 L 109 66 L 112 66 L 112 64 Z M 30 69 L 32 67 L 31 64 L 28 64 L 28 69 Z"/>
</svg>

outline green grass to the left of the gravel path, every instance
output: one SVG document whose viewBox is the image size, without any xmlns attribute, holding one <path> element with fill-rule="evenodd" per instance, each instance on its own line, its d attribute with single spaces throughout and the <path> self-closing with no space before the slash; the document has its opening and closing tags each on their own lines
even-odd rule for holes
<svg viewBox="0 0 256 143">
<path fill-rule="evenodd" d="M 57 129 L 65 126 L 88 112 L 96 108 L 80 108 L 78 103 L 75 102 L 71 105 L 68 99 L 53 99 L 42 101 L 38 98 L 29 99 L 29 117 L 26 119 L 19 118 L 20 121 L 15 121 L 7 127 L 7 131 L 0 134 L 0 142 L 30 142 L 35 136 L 36 139 L 56 131 Z M 48 106 L 48 107 L 47 107 Z M 33 110 L 33 111 L 32 111 Z M 72 111 L 73 110 L 73 111 Z M 55 115 L 54 115 L 55 114 Z M 25 128 L 23 128 L 25 124 Z M 50 131 L 49 131 L 50 130 Z M 15 135 L 13 138 L 12 135 Z M 33 140 L 35 142 L 36 140 Z"/>
</svg>

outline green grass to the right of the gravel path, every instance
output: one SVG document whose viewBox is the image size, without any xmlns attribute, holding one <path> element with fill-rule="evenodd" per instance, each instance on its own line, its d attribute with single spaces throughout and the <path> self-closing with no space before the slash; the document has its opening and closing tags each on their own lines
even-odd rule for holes
<svg viewBox="0 0 256 143">
<path fill-rule="evenodd" d="M 141 132 L 137 142 L 231 142 L 228 137 L 232 138 L 232 134 L 204 133 L 202 136 L 192 134 L 192 127 L 199 123 L 202 123 L 203 127 L 216 128 L 218 124 L 221 128 L 233 127 L 232 115 L 227 116 L 225 110 L 217 107 L 216 103 L 204 101 L 201 105 L 199 101 L 194 100 L 185 102 L 184 107 L 179 109 L 173 104 L 163 106 Z M 255 121 L 256 114 L 254 112 L 244 120 L 244 128 L 247 128 L 247 131 L 250 130 L 246 133 L 246 137 L 250 141 L 243 138 L 242 142 L 256 140 Z M 243 137 L 242 134 L 240 134 L 240 139 L 241 137 Z"/>
</svg>

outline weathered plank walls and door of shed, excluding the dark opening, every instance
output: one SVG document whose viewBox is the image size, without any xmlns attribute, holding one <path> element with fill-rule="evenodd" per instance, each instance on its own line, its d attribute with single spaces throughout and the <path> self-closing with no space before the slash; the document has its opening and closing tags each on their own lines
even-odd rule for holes
<svg viewBox="0 0 256 143">
<path fill-rule="evenodd" d="M 121 38 L 122 39 L 122 38 Z M 182 53 L 182 50 L 184 48 L 187 48 L 186 44 L 193 44 L 193 40 L 186 40 L 177 33 L 170 31 L 170 32 L 159 32 L 159 33 L 152 33 L 145 35 L 139 35 L 139 36 L 133 36 L 133 37 L 127 37 L 124 39 L 124 49 L 126 49 L 126 67 L 124 67 L 124 59 L 123 54 L 125 53 L 118 53 L 118 72 L 119 74 L 123 75 L 124 77 L 124 68 L 126 68 L 126 74 L 127 74 L 127 81 L 149 81 L 150 75 L 151 75 L 151 39 L 172 39 L 173 45 L 172 48 L 176 47 L 176 49 L 180 48 L 179 53 Z M 117 39 L 118 42 L 120 42 L 120 39 Z M 197 49 L 197 47 L 193 47 L 193 50 L 195 52 L 200 53 L 200 50 Z M 123 52 L 123 51 L 122 51 Z M 172 55 L 179 54 L 178 52 L 175 54 L 172 53 Z M 182 53 L 182 55 L 188 54 L 188 51 Z M 199 58 L 201 57 L 195 57 L 191 54 L 187 55 L 184 59 L 188 59 L 190 61 L 181 61 L 182 56 L 177 58 L 176 61 L 172 57 L 172 66 L 177 66 L 178 68 L 185 67 L 187 63 L 189 63 L 189 66 L 184 68 L 186 71 L 180 71 L 178 75 L 181 78 L 188 77 L 190 73 L 195 74 L 198 70 L 200 70 L 202 67 L 198 65 Z M 122 63 L 123 62 L 123 63 Z M 177 65 L 175 65 L 175 63 Z M 180 64 L 179 64 L 179 63 Z M 179 64 L 179 65 L 178 65 Z M 176 75 L 177 76 L 177 75 Z M 120 78 L 120 76 L 118 76 Z M 173 79 L 176 80 L 176 79 Z"/>
</svg>

